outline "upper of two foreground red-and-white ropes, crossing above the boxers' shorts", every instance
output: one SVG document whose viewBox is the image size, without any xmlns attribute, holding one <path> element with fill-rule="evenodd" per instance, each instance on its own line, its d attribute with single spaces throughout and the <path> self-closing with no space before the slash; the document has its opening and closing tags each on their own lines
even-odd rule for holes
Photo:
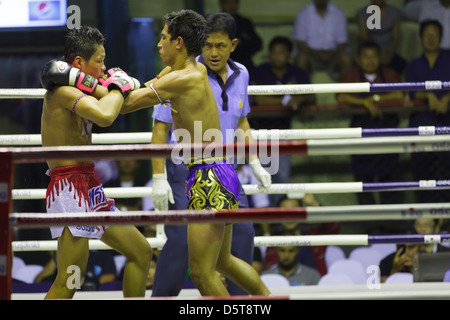
<svg viewBox="0 0 450 320">
<path fill-rule="evenodd" d="M 55 158 L 86 158 L 92 153 L 90 159 L 111 159 L 134 157 L 136 159 L 149 159 L 151 157 L 177 156 L 180 152 L 188 154 L 202 154 L 204 144 L 185 145 L 101 145 L 101 146 L 58 146 L 58 147 L 11 147 L 2 148 L 4 152 L 12 152 L 18 163 L 40 162 Z M 374 137 L 360 139 L 316 139 L 306 141 L 263 141 L 250 144 L 208 144 L 208 150 L 223 152 L 231 156 L 236 152 L 256 154 L 266 152 L 270 148 L 272 156 L 277 154 L 302 154 L 309 156 L 355 155 L 355 154 L 385 154 L 385 153 L 416 153 L 416 152 L 445 152 L 450 151 L 450 135 L 439 136 L 405 136 L 405 137 Z M 98 155 L 94 155 L 96 153 Z M 136 155 L 138 154 L 138 155 Z M 216 153 L 217 154 L 217 153 Z M 270 160 L 270 159 L 269 159 Z M 265 164 L 265 163 L 263 163 Z"/>
</svg>

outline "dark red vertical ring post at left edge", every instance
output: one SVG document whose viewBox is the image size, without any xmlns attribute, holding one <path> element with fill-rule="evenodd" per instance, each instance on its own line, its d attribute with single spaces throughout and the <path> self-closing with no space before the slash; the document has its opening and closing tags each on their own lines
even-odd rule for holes
<svg viewBox="0 0 450 320">
<path fill-rule="evenodd" d="M 12 292 L 12 230 L 9 213 L 12 209 L 11 190 L 14 165 L 12 152 L 0 150 L 0 300 L 10 300 Z"/>
</svg>

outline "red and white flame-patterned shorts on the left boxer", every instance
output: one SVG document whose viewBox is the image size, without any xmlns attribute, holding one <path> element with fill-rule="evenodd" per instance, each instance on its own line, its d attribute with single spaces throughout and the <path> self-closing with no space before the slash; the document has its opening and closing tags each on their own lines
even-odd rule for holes
<svg viewBox="0 0 450 320">
<path fill-rule="evenodd" d="M 119 211 L 108 199 L 94 173 L 93 164 L 58 167 L 50 171 L 47 213 Z M 68 226 L 74 237 L 100 239 L 106 226 Z M 64 226 L 51 226 L 52 238 L 62 235 Z"/>
</svg>

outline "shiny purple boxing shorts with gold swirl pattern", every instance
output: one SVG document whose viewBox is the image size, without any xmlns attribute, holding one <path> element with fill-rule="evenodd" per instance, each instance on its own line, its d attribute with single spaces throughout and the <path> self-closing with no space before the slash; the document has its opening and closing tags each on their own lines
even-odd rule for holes
<svg viewBox="0 0 450 320">
<path fill-rule="evenodd" d="M 189 209 L 221 210 L 239 207 L 239 179 L 225 160 L 188 165 Z"/>
</svg>

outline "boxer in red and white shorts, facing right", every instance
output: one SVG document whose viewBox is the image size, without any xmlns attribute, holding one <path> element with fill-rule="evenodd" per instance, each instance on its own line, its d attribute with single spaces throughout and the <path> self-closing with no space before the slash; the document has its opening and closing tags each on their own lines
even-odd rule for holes
<svg viewBox="0 0 450 320">
<path fill-rule="evenodd" d="M 79 146 L 92 143 L 92 124 L 106 127 L 118 116 L 129 91 L 139 87 L 126 74 L 105 79 L 104 37 L 83 26 L 67 34 L 65 61 L 50 61 L 42 70 L 44 97 L 41 136 L 43 146 Z M 111 71 L 112 70 L 112 71 Z M 110 69 L 111 73 L 116 69 Z M 116 210 L 94 175 L 92 161 L 74 159 L 48 161 L 51 182 L 47 189 L 48 212 L 89 212 Z M 124 269 L 125 297 L 145 295 L 152 250 L 139 230 L 130 225 L 52 227 L 58 238 L 56 279 L 46 298 L 71 298 L 77 288 L 68 285 L 69 267 L 77 266 L 81 277 L 89 257 L 89 238 L 98 238 L 127 257 Z M 69 269 L 72 270 L 72 269 Z"/>
</svg>

